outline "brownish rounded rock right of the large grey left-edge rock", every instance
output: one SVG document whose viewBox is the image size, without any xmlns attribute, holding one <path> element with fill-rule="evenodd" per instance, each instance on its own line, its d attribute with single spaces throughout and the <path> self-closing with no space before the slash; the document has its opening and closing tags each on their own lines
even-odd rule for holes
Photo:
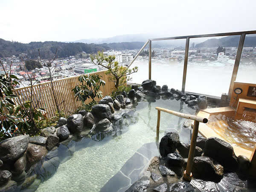
<svg viewBox="0 0 256 192">
<path fill-rule="evenodd" d="M 26 154 L 29 163 L 37 163 L 47 154 L 47 150 L 44 146 L 29 144 Z"/>
</svg>

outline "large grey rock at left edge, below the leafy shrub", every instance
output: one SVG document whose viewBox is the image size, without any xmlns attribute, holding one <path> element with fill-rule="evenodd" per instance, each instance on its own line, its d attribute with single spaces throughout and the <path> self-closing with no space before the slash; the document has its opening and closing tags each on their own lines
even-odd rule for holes
<svg viewBox="0 0 256 192">
<path fill-rule="evenodd" d="M 0 142 L 0 160 L 13 161 L 21 157 L 29 145 L 29 136 L 12 137 Z"/>
</svg>

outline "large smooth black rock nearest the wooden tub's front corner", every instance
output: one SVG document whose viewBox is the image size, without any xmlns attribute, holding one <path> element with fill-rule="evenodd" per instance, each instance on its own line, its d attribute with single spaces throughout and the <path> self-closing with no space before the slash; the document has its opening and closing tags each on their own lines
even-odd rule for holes
<svg viewBox="0 0 256 192">
<path fill-rule="evenodd" d="M 238 167 L 233 147 L 217 137 L 207 139 L 204 147 L 204 156 L 211 157 L 230 171 L 235 171 Z"/>
</svg>

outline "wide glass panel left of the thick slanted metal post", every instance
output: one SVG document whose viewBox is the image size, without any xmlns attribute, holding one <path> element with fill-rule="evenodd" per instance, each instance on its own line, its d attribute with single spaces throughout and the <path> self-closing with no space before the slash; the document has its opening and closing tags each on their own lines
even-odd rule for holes
<svg viewBox="0 0 256 192">
<path fill-rule="evenodd" d="M 190 39 L 185 90 L 219 97 L 228 93 L 239 38 Z"/>
</svg>

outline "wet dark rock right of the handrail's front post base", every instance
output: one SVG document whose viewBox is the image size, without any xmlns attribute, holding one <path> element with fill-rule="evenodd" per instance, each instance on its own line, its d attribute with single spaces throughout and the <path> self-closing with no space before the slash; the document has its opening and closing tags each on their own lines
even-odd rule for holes
<svg viewBox="0 0 256 192">
<path fill-rule="evenodd" d="M 223 177 L 223 166 L 209 157 L 194 157 L 192 175 L 198 179 L 219 182 Z"/>
</svg>

